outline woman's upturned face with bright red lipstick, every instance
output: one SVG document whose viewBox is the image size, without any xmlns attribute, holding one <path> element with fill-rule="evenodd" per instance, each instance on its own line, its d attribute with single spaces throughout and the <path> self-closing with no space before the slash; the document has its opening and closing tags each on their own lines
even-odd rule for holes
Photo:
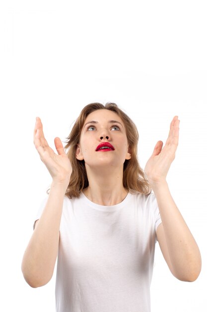
<svg viewBox="0 0 207 312">
<path fill-rule="evenodd" d="M 102 143 L 111 148 L 98 149 Z M 111 165 L 123 168 L 125 159 L 130 159 L 130 149 L 122 119 L 109 110 L 90 113 L 83 125 L 76 158 L 85 161 L 85 166 Z"/>
</svg>

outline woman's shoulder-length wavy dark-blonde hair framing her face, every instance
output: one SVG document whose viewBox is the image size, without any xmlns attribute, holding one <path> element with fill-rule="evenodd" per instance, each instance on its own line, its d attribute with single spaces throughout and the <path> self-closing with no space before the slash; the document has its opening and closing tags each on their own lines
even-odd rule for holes
<svg viewBox="0 0 207 312">
<path fill-rule="evenodd" d="M 88 186 L 87 173 L 84 160 L 76 158 L 76 146 L 80 140 L 80 133 L 83 128 L 86 117 L 100 109 L 106 109 L 117 113 L 122 119 L 126 128 L 128 144 L 131 149 L 131 159 L 126 159 L 123 168 L 123 186 L 130 192 L 138 191 L 142 194 L 149 194 L 151 187 L 148 183 L 144 171 L 138 163 L 138 130 L 135 123 L 125 114 L 117 104 L 108 102 L 105 106 L 101 103 L 91 103 L 86 105 L 80 112 L 79 117 L 76 119 L 72 130 L 67 137 L 67 145 L 65 149 L 69 149 L 67 155 L 71 162 L 72 173 L 70 176 L 69 186 L 65 195 L 69 198 L 79 197 L 80 192 Z"/>
</svg>

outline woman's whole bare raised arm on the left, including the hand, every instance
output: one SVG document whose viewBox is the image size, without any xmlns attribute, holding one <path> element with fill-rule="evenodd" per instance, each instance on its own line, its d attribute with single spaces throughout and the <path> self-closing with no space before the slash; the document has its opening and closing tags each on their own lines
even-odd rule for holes
<svg viewBox="0 0 207 312">
<path fill-rule="evenodd" d="M 53 180 L 47 203 L 25 250 L 21 269 L 31 287 L 40 287 L 47 284 L 53 276 L 63 201 L 72 168 L 60 138 L 55 138 L 58 155 L 48 146 L 39 118 L 36 119 L 34 129 L 34 144 Z"/>
</svg>

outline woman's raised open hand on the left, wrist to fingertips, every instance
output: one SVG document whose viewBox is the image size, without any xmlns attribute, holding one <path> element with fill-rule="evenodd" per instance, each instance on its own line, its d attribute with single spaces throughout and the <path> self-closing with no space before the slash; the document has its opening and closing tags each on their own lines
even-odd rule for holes
<svg viewBox="0 0 207 312">
<path fill-rule="evenodd" d="M 36 118 L 34 129 L 34 145 L 41 160 L 48 168 L 53 181 L 63 183 L 68 186 L 72 173 L 69 157 L 66 155 L 60 138 L 55 138 L 55 147 L 58 155 L 49 147 L 43 133 L 43 125 L 39 117 Z"/>
</svg>

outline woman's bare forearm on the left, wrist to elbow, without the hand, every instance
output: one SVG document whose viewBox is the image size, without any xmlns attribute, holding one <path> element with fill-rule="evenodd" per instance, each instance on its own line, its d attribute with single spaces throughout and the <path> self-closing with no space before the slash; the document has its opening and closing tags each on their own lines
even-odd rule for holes
<svg viewBox="0 0 207 312">
<path fill-rule="evenodd" d="M 52 278 L 65 191 L 63 184 L 52 182 L 47 203 L 25 250 L 22 273 L 31 287 L 43 286 Z"/>
</svg>

